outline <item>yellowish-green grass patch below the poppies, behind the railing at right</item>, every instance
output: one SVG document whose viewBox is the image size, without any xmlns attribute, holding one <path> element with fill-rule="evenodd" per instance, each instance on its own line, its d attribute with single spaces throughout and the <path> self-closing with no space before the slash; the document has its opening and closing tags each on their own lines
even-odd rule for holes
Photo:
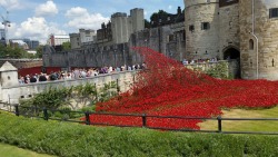
<svg viewBox="0 0 278 157">
<path fill-rule="evenodd" d="M 270 109 L 230 109 L 222 110 L 224 118 L 278 118 L 278 106 Z M 217 130 L 217 120 L 199 124 L 201 130 Z M 222 131 L 275 131 L 278 133 L 278 121 L 222 121 Z"/>
</svg>

